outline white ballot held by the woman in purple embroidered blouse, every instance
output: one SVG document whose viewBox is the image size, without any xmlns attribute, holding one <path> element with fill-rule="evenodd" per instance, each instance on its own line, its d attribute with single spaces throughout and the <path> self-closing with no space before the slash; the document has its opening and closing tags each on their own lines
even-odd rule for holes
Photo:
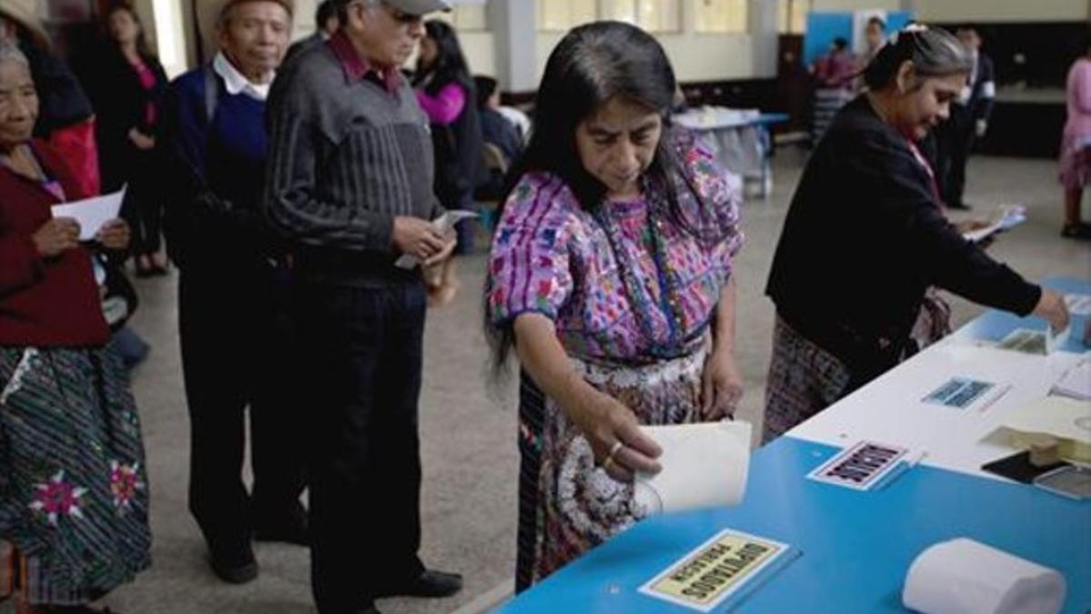
<svg viewBox="0 0 1091 614">
<path fill-rule="evenodd" d="M 751 425 L 706 422 L 645 426 L 663 449 L 656 475 L 637 474 L 636 505 L 647 513 L 732 506 L 746 492 Z"/>
</svg>

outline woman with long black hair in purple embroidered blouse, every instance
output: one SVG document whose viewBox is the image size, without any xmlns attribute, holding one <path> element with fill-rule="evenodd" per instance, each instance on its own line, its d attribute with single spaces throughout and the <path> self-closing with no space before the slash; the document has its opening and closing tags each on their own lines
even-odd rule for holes
<svg viewBox="0 0 1091 614">
<path fill-rule="evenodd" d="M 487 328 L 514 344 L 517 588 L 630 527 L 642 424 L 732 415 L 740 180 L 670 123 L 662 48 L 616 22 L 560 43 L 493 238 Z"/>
</svg>

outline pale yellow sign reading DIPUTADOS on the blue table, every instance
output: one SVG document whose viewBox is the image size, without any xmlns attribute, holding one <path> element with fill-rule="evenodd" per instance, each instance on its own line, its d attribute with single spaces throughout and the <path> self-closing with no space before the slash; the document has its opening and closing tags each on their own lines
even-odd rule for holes
<svg viewBox="0 0 1091 614">
<path fill-rule="evenodd" d="M 708 612 L 787 550 L 787 544 L 727 529 L 640 587 L 640 592 Z"/>
</svg>

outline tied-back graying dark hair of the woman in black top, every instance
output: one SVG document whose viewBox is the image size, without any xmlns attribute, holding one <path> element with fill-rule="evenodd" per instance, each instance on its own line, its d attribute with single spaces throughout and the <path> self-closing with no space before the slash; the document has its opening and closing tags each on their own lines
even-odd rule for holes
<svg viewBox="0 0 1091 614">
<path fill-rule="evenodd" d="M 872 91 L 889 85 L 906 61 L 912 61 L 923 76 L 946 76 L 973 69 L 973 58 L 966 45 L 946 29 L 910 25 L 884 45 L 867 68 L 864 83 Z"/>
</svg>

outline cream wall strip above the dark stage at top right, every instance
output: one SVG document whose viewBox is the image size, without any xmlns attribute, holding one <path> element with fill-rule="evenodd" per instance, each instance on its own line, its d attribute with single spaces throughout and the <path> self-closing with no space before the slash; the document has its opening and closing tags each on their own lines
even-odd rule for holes
<svg viewBox="0 0 1091 614">
<path fill-rule="evenodd" d="M 1088 0 L 914 0 L 932 22 L 1055 22 L 1089 17 Z"/>
</svg>

